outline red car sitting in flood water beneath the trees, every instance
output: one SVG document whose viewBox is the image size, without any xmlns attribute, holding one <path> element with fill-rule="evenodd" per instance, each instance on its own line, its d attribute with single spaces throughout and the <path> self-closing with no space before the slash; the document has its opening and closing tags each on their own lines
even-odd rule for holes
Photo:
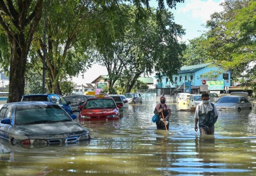
<svg viewBox="0 0 256 176">
<path fill-rule="evenodd" d="M 118 120 L 121 106 L 112 97 L 95 97 L 78 108 L 81 109 L 79 120 Z"/>
</svg>

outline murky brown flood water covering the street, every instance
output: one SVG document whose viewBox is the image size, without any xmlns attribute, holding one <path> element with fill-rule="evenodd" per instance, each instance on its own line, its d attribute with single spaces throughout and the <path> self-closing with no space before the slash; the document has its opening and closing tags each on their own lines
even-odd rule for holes
<svg viewBox="0 0 256 176">
<path fill-rule="evenodd" d="M 214 136 L 200 137 L 194 112 L 171 100 L 170 130 L 156 130 L 157 102 L 129 105 L 120 120 L 82 122 L 90 142 L 39 149 L 0 143 L 0 176 L 256 175 L 255 107 L 220 112 Z"/>
</svg>

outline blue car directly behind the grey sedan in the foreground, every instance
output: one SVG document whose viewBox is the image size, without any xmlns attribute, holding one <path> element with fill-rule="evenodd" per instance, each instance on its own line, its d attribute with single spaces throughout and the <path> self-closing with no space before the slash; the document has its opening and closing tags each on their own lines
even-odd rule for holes
<svg viewBox="0 0 256 176">
<path fill-rule="evenodd" d="M 71 115 L 71 102 L 66 101 L 63 96 L 53 93 L 39 93 L 39 94 L 30 94 L 23 95 L 21 101 L 49 101 L 61 106 L 69 115 Z"/>
</svg>

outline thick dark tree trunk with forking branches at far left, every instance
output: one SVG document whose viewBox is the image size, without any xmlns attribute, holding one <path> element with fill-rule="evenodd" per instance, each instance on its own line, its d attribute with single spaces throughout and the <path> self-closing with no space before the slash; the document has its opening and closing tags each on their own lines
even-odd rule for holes
<svg viewBox="0 0 256 176">
<path fill-rule="evenodd" d="M 8 102 L 20 101 L 24 94 L 28 51 L 42 9 L 43 0 L 0 0 L 1 30 L 10 46 Z"/>
</svg>

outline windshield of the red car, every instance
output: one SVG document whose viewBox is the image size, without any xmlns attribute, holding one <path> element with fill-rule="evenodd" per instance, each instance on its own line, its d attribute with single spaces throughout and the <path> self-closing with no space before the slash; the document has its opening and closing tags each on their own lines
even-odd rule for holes
<svg viewBox="0 0 256 176">
<path fill-rule="evenodd" d="M 85 109 L 116 108 L 113 99 L 88 99 Z"/>
</svg>

